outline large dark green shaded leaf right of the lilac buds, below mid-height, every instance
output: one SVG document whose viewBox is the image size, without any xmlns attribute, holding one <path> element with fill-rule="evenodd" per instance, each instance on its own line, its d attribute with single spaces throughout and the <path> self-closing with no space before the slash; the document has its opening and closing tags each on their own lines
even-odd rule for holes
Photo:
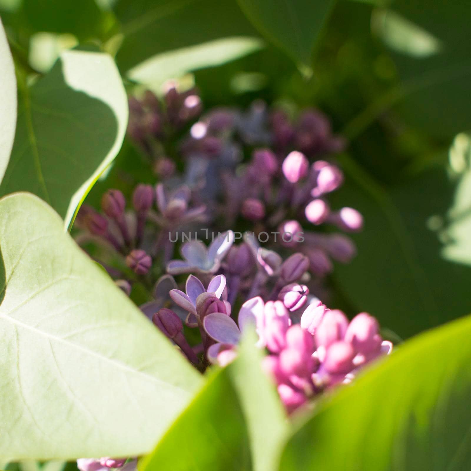
<svg viewBox="0 0 471 471">
<path fill-rule="evenodd" d="M 471 268 L 443 256 L 440 230 L 454 201 L 447 172 L 432 169 L 384 187 L 347 156 L 333 208 L 348 201 L 365 218 L 357 256 L 337 264 L 335 283 L 356 312 L 406 338 L 471 311 Z M 438 227 L 436 227 L 438 225 Z"/>
</svg>

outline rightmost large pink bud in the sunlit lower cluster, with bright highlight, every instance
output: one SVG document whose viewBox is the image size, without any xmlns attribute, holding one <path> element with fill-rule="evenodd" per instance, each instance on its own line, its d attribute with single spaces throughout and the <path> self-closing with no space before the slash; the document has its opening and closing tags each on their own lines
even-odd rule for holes
<svg viewBox="0 0 471 471">
<path fill-rule="evenodd" d="M 382 339 L 378 322 L 366 312 L 361 312 L 351 320 L 345 333 L 345 341 L 365 355 L 379 351 Z"/>
</svg>

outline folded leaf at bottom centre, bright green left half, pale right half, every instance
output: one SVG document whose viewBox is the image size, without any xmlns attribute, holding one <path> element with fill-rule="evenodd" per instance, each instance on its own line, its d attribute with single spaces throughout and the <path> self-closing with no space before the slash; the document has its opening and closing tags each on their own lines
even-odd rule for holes
<svg viewBox="0 0 471 471">
<path fill-rule="evenodd" d="M 236 360 L 212 374 L 140 471 L 274 470 L 288 422 L 262 357 L 254 333 L 244 336 Z"/>
</svg>

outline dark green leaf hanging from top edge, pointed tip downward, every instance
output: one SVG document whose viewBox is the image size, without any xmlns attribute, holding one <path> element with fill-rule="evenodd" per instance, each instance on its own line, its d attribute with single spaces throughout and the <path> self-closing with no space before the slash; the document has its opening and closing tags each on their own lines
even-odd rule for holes
<svg viewBox="0 0 471 471">
<path fill-rule="evenodd" d="M 252 23 L 308 70 L 333 0 L 238 0 Z"/>
</svg>

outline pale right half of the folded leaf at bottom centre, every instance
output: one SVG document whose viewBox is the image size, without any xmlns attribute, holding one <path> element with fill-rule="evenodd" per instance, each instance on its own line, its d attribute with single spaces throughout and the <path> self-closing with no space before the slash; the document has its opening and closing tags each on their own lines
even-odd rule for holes
<svg viewBox="0 0 471 471">
<path fill-rule="evenodd" d="M 255 333 L 244 335 L 237 359 L 228 366 L 247 424 L 254 471 L 272 471 L 288 421 L 274 384 L 262 371 L 263 353 L 255 347 Z"/>
</svg>

